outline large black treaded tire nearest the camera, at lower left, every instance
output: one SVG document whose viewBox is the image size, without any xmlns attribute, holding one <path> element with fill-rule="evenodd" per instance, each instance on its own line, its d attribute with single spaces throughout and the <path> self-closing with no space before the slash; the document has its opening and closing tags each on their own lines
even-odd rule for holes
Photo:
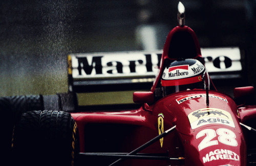
<svg viewBox="0 0 256 166">
<path fill-rule="evenodd" d="M 62 111 L 23 113 L 15 126 L 15 165 L 74 165 L 78 153 L 77 127 Z"/>
</svg>

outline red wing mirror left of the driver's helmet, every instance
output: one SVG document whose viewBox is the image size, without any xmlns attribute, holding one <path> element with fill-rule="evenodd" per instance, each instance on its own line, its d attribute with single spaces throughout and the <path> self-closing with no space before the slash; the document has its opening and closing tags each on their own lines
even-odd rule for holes
<svg viewBox="0 0 256 166">
<path fill-rule="evenodd" d="M 136 91 L 133 93 L 134 103 L 153 103 L 154 93 L 152 91 Z"/>
</svg>

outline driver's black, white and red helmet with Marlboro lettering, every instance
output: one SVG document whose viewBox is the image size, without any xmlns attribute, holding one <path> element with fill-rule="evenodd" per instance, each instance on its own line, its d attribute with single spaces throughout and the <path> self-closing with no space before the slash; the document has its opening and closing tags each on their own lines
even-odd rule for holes
<svg viewBox="0 0 256 166">
<path fill-rule="evenodd" d="M 205 66 L 196 59 L 180 59 L 164 68 L 161 78 L 163 96 L 191 89 L 205 89 Z"/>
</svg>

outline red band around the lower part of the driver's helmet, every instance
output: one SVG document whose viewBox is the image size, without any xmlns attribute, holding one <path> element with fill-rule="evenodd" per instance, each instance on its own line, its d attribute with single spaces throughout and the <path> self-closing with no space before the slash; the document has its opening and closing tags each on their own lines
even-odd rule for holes
<svg viewBox="0 0 256 166">
<path fill-rule="evenodd" d="M 162 86 L 176 86 L 176 85 L 185 85 L 185 84 L 193 84 L 196 82 L 202 81 L 202 76 L 177 79 L 177 80 L 161 80 Z"/>
</svg>

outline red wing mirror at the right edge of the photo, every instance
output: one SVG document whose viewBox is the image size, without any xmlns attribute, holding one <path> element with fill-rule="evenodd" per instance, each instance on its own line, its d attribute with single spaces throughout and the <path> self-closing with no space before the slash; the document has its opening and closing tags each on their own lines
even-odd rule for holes
<svg viewBox="0 0 256 166">
<path fill-rule="evenodd" d="M 238 87 L 234 88 L 234 101 L 237 105 L 254 103 L 254 87 Z"/>
</svg>

